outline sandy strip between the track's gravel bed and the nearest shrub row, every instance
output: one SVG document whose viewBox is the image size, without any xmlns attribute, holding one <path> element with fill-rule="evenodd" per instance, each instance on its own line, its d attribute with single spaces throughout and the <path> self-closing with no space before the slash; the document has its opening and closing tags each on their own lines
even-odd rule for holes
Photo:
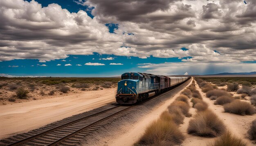
<svg viewBox="0 0 256 146">
<path fill-rule="evenodd" d="M 113 133 L 113 135 L 101 139 L 102 144 L 97 144 L 97 146 L 132 146 L 144 134 L 148 124 L 158 119 L 161 113 L 166 111 L 167 107 L 175 100 L 178 95 L 180 95 L 180 92 L 171 99 L 166 100 L 159 106 L 153 108 L 150 113 L 138 119 L 136 124 L 131 125 L 130 127 L 127 127 L 127 125 L 120 127 L 119 130 L 124 131 L 123 133 Z"/>
</svg>

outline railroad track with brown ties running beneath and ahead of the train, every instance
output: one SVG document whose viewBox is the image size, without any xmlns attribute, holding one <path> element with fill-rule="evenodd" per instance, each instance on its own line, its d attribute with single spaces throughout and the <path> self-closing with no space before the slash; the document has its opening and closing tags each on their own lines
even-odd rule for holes
<svg viewBox="0 0 256 146">
<path fill-rule="evenodd" d="M 47 130 L 39 132 L 36 134 L 28 135 L 16 135 L 3 139 L 0 141 L 1 146 L 54 146 L 54 145 L 76 145 L 81 139 L 86 135 L 90 135 L 93 131 L 101 128 L 102 126 L 113 121 L 113 117 L 122 117 L 124 111 L 130 108 L 141 106 L 159 97 L 162 97 L 182 86 L 188 84 L 190 80 L 184 82 L 180 86 L 173 88 L 170 91 L 157 95 L 154 98 L 146 100 L 145 102 L 133 106 L 122 106 L 116 104 L 114 107 L 101 110 L 96 113 L 91 113 L 90 115 L 78 115 L 74 119 L 57 124 L 56 126 L 48 127 Z"/>
</svg>

